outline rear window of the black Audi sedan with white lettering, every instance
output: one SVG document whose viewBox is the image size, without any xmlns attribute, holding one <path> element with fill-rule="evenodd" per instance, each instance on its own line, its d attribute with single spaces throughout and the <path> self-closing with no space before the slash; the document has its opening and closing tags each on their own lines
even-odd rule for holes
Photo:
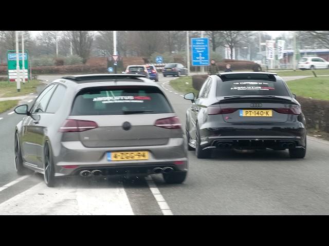
<svg viewBox="0 0 329 246">
<path fill-rule="evenodd" d="M 230 80 L 218 81 L 217 96 L 274 95 L 290 96 L 283 81 Z"/>
</svg>

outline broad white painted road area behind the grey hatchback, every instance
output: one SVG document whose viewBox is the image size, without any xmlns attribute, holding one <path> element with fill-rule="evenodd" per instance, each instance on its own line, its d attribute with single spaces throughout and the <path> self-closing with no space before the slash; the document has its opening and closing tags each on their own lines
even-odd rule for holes
<svg viewBox="0 0 329 246">
<path fill-rule="evenodd" d="M 111 187 L 109 187 L 111 186 Z M 134 215 L 122 184 L 64 184 L 49 189 L 40 182 L 0 204 L 0 215 Z"/>
</svg>

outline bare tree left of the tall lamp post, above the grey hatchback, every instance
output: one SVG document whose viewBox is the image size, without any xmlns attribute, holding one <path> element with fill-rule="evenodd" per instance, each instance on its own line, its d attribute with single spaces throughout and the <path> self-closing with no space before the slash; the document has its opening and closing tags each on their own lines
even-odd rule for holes
<svg viewBox="0 0 329 246">
<path fill-rule="evenodd" d="M 71 31 L 73 49 L 82 58 L 84 64 L 90 56 L 93 39 L 91 31 Z"/>
</svg>

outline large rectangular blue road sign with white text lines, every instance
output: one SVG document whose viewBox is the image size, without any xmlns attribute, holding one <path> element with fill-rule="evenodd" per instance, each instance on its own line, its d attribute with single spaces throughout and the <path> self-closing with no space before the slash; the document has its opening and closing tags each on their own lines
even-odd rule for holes
<svg viewBox="0 0 329 246">
<path fill-rule="evenodd" d="M 191 38 L 192 66 L 209 65 L 209 39 Z"/>
</svg>

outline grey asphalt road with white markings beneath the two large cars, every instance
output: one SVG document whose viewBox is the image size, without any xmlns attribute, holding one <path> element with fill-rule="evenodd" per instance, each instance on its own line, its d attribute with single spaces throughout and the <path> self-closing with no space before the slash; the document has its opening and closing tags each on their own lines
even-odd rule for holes
<svg viewBox="0 0 329 246">
<path fill-rule="evenodd" d="M 57 77 L 40 76 L 49 81 Z M 190 102 L 169 87 L 171 79 L 160 77 L 159 84 L 185 128 Z M 0 114 L 0 215 L 329 214 L 328 141 L 308 137 L 304 159 L 289 159 L 287 151 L 214 151 L 200 160 L 190 151 L 189 175 L 181 185 L 167 185 L 161 175 L 151 175 L 147 180 L 77 177 L 47 188 L 40 174 L 14 173 L 13 130 L 22 116 L 8 115 L 11 111 Z"/>
</svg>

